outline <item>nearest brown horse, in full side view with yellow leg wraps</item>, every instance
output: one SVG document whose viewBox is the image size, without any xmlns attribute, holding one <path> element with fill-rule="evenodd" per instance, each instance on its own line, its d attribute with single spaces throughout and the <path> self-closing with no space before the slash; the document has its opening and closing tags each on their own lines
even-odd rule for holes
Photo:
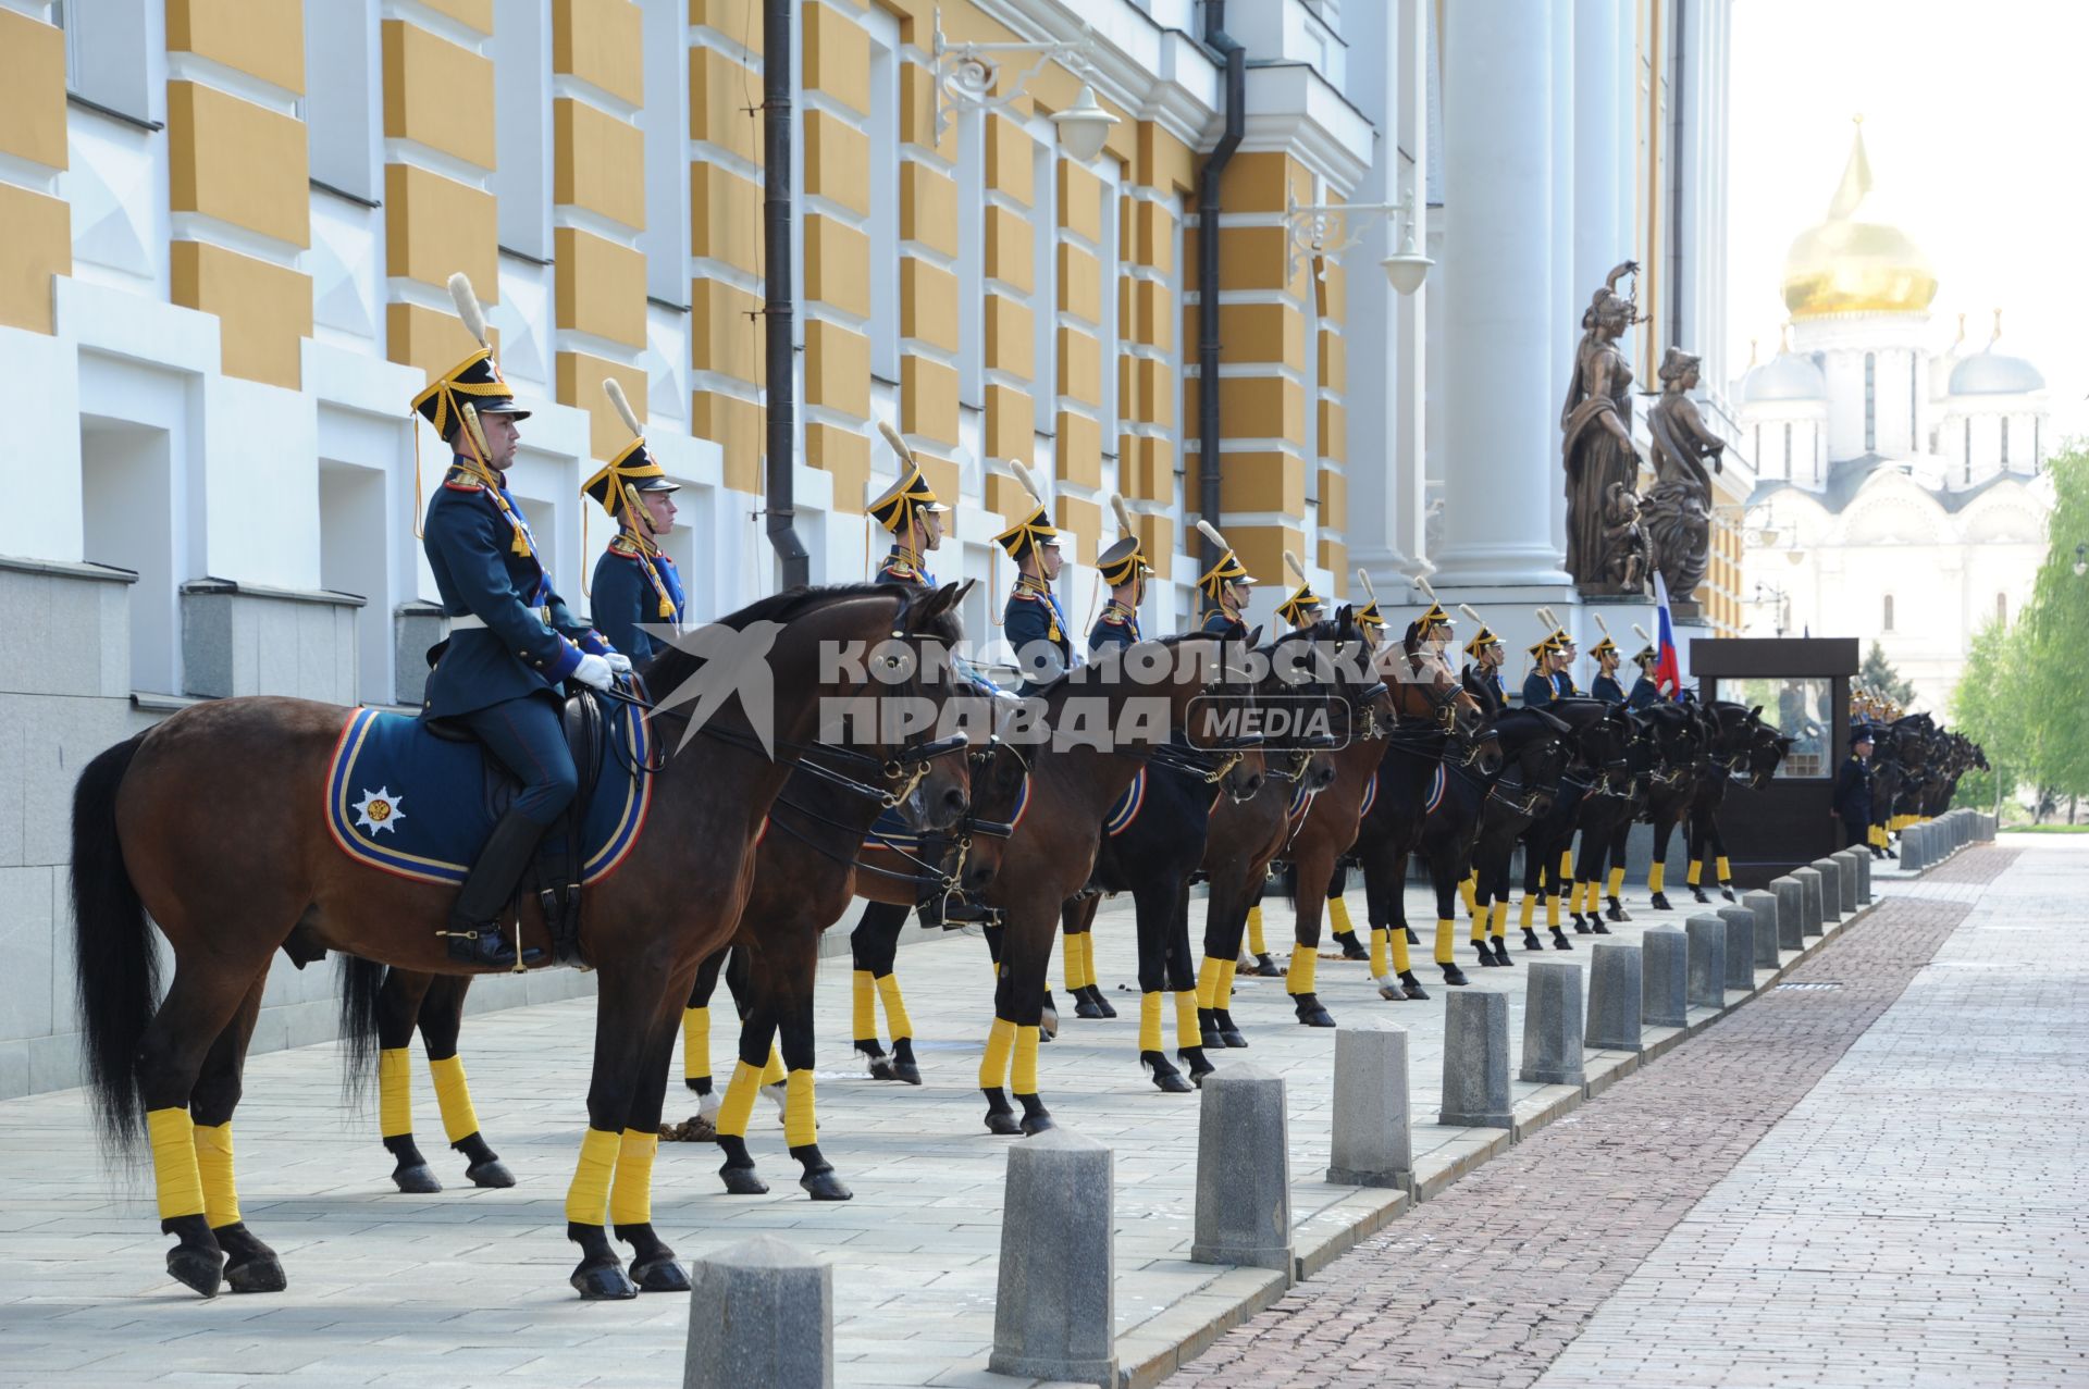
<svg viewBox="0 0 2089 1389">
<path fill-rule="evenodd" d="M 729 696 L 706 708 L 714 700 L 706 696 L 698 708 L 708 723 L 689 733 L 702 737 L 702 754 L 658 769 L 646 831 L 583 898 L 581 948 L 600 982 L 589 1128 L 566 1197 L 566 1234 L 583 1255 L 570 1282 L 583 1297 L 637 1293 L 610 1247 L 606 1216 L 633 1247 L 646 1287 L 689 1287 L 650 1211 L 681 1000 L 698 963 L 740 923 L 752 848 L 821 731 L 825 702 L 867 700 L 882 710 L 890 696 L 942 693 L 946 652 L 959 637 L 955 593 L 955 585 L 921 597 L 869 585 L 796 589 L 719 625 L 773 639 L 773 706 L 748 710 Z M 915 656 L 905 683 L 879 668 L 902 662 L 900 648 Z M 867 673 L 850 670 L 829 660 L 836 650 L 882 658 Z M 700 683 L 704 664 L 668 648 L 641 675 L 681 696 Z M 351 714 L 278 698 L 198 704 L 96 756 L 75 787 L 75 957 L 96 1109 L 115 1145 L 148 1132 L 161 1228 L 178 1239 L 167 1272 L 203 1295 L 215 1295 L 221 1278 L 234 1291 L 284 1287 L 276 1253 L 240 1222 L 230 1134 L 274 952 L 301 929 L 311 944 L 363 961 L 466 971 L 439 934 L 447 886 L 376 871 L 330 842 L 326 773 Z M 765 716 L 773 754 L 754 731 Z M 689 710 L 658 712 L 654 725 L 666 744 L 691 719 Z M 869 769 L 865 777 L 886 796 L 930 806 L 928 823 L 961 817 L 963 773 L 934 758 L 950 748 L 890 737 L 877 723 L 852 754 Z M 186 813 L 196 804 L 213 813 Z M 146 913 L 175 961 L 157 1007 Z M 518 938 L 531 936 L 543 940 L 545 927 L 524 902 Z"/>
</svg>

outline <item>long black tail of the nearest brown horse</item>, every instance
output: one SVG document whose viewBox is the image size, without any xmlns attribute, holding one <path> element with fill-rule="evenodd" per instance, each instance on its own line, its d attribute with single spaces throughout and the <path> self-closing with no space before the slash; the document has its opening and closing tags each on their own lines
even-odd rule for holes
<svg viewBox="0 0 2089 1389">
<path fill-rule="evenodd" d="M 132 1151 L 144 1126 L 138 1044 L 159 998 L 159 950 L 117 838 L 117 792 L 144 733 L 109 748 L 73 785 L 73 975 L 102 1143 Z"/>
</svg>

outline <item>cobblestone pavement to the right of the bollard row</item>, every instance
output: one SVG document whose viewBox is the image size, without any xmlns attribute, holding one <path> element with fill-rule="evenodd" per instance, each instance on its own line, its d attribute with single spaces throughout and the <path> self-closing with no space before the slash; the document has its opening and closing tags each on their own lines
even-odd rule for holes
<svg viewBox="0 0 2089 1389">
<path fill-rule="evenodd" d="M 2089 1383 L 2085 873 L 1895 886 L 1172 1383 Z"/>
</svg>

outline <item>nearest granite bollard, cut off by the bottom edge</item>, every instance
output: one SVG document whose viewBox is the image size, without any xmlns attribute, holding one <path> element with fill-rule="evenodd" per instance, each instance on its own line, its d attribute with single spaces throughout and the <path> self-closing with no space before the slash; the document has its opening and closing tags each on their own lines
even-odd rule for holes
<svg viewBox="0 0 2089 1389">
<path fill-rule="evenodd" d="M 683 1389 L 834 1385 L 834 1268 L 773 1234 L 689 1266 Z"/>
</svg>

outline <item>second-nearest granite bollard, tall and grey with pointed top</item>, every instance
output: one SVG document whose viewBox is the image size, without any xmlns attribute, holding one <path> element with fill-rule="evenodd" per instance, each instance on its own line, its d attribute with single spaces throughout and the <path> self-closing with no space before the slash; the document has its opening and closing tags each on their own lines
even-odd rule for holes
<svg viewBox="0 0 2089 1389">
<path fill-rule="evenodd" d="M 1105 1145 L 1047 1128 L 1009 1147 L 988 1370 L 1118 1383 L 1113 1230 L 1116 1157 Z"/>
</svg>

